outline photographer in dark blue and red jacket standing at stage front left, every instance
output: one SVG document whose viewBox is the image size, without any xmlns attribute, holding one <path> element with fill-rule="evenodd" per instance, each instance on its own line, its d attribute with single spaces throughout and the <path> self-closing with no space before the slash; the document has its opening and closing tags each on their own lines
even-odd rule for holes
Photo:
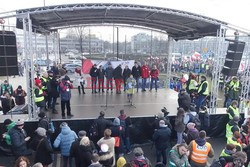
<svg viewBox="0 0 250 167">
<path fill-rule="evenodd" d="M 70 78 L 66 75 L 60 83 L 61 110 L 63 119 L 66 118 L 65 105 L 67 107 L 67 117 L 71 118 L 73 116 L 70 109 L 71 89 L 73 89 L 73 85 L 71 84 Z"/>
</svg>

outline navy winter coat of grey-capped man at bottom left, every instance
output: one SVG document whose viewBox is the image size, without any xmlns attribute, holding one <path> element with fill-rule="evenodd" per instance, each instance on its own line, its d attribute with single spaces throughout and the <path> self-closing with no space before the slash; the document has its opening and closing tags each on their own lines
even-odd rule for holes
<svg viewBox="0 0 250 167">
<path fill-rule="evenodd" d="M 24 135 L 23 130 L 15 126 L 10 129 L 9 135 L 11 139 L 11 148 L 16 156 L 31 154 L 26 146 L 26 141 L 24 140 L 26 136 Z"/>
</svg>

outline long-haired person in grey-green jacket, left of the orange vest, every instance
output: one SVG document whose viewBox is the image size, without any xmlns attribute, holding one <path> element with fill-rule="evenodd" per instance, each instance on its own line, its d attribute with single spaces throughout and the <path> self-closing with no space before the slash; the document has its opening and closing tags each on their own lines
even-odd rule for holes
<svg viewBox="0 0 250 167">
<path fill-rule="evenodd" d="M 169 152 L 168 167 L 191 167 L 188 156 L 188 146 L 185 143 L 175 145 Z"/>
</svg>

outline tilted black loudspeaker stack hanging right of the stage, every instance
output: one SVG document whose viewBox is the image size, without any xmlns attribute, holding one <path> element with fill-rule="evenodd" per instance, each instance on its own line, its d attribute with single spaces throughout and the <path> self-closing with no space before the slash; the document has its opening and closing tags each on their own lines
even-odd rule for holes
<svg viewBox="0 0 250 167">
<path fill-rule="evenodd" d="M 240 66 L 245 42 L 229 39 L 227 39 L 227 41 L 229 41 L 229 45 L 222 74 L 226 76 L 235 76 Z"/>
</svg>

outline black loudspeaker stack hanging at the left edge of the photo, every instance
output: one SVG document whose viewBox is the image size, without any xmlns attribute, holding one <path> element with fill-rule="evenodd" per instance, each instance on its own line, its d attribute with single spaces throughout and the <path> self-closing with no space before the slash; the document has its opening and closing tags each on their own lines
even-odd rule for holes
<svg viewBox="0 0 250 167">
<path fill-rule="evenodd" d="M 18 75 L 16 34 L 0 31 L 0 76 Z"/>
</svg>

